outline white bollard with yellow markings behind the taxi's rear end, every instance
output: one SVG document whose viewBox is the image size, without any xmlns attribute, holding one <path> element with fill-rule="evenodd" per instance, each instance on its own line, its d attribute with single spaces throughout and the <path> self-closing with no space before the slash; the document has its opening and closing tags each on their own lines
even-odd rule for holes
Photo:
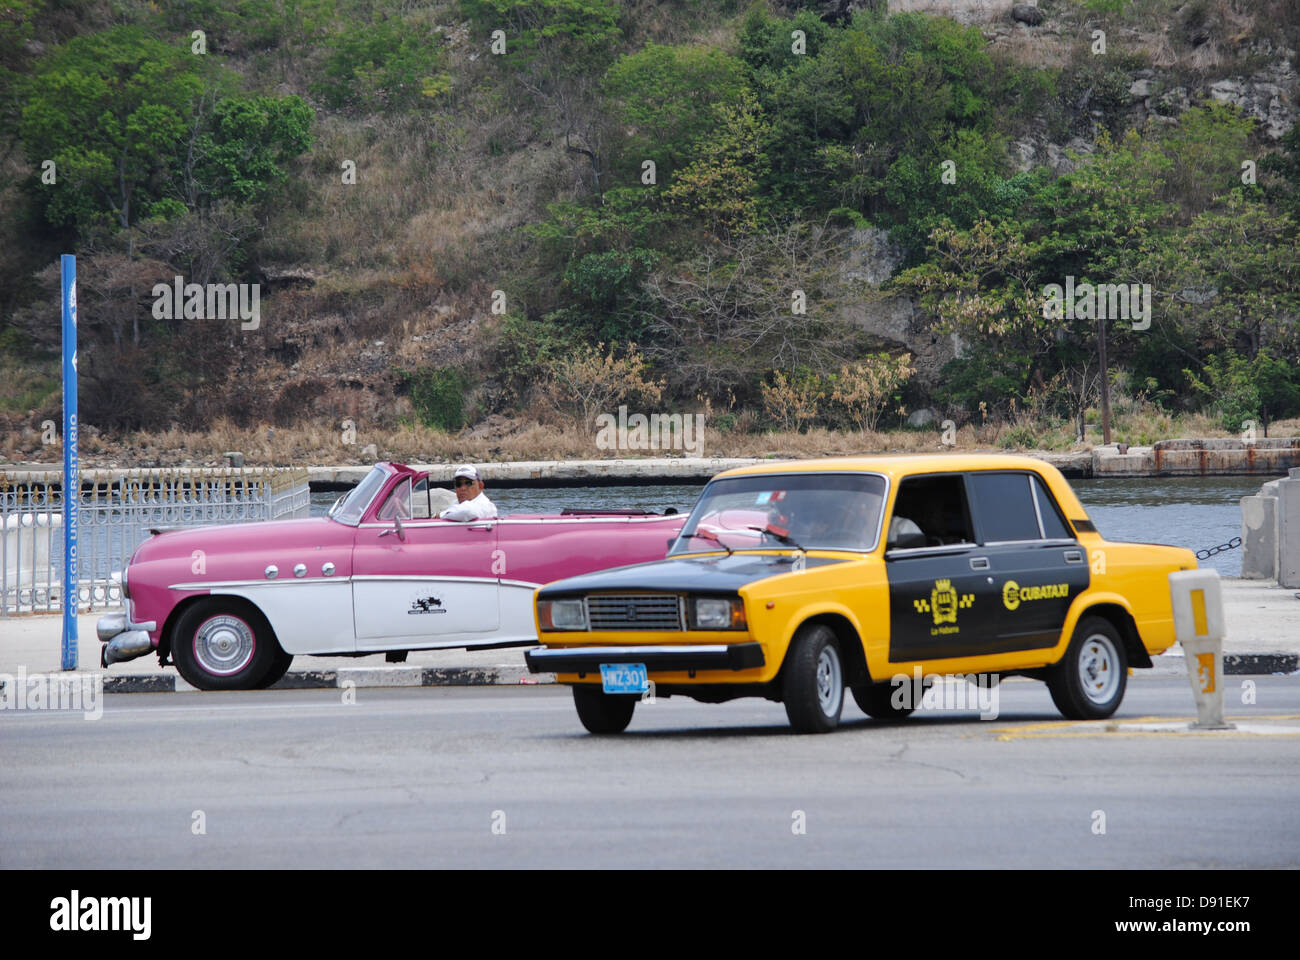
<svg viewBox="0 0 1300 960">
<path fill-rule="evenodd" d="M 1216 570 L 1169 575 L 1174 633 L 1183 645 L 1187 679 L 1196 697 L 1192 730 L 1232 730 L 1223 719 L 1223 594 Z"/>
</svg>

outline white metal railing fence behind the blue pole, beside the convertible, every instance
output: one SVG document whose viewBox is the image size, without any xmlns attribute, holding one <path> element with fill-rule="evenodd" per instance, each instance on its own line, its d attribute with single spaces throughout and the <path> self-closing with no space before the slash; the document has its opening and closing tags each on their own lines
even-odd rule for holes
<svg viewBox="0 0 1300 960">
<path fill-rule="evenodd" d="M 0 471 L 0 617 L 62 609 L 62 490 L 56 471 Z M 152 527 L 307 516 L 304 468 L 83 470 L 77 606 L 121 606 L 121 571 Z"/>
</svg>

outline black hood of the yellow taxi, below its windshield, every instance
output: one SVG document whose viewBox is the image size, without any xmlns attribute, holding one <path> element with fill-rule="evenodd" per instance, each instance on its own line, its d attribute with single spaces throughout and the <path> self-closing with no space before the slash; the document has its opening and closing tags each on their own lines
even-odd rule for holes
<svg viewBox="0 0 1300 960">
<path fill-rule="evenodd" d="M 542 588 L 540 596 L 558 597 L 604 591 L 654 591 L 664 593 L 734 593 L 754 580 L 789 574 L 793 554 L 736 553 L 731 557 L 673 557 L 671 559 L 615 567 L 571 576 Z M 805 557 L 806 567 L 845 563 L 838 557 Z"/>
</svg>

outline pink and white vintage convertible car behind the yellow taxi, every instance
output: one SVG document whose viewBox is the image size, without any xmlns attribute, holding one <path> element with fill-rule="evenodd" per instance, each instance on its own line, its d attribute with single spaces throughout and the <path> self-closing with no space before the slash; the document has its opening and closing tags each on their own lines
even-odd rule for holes
<svg viewBox="0 0 1300 960">
<path fill-rule="evenodd" d="M 428 475 L 378 463 L 329 516 L 157 531 L 100 618 L 101 662 L 156 653 L 200 689 L 269 687 L 298 654 L 537 643 L 533 591 L 663 559 L 684 514 L 430 519 Z"/>
</svg>

